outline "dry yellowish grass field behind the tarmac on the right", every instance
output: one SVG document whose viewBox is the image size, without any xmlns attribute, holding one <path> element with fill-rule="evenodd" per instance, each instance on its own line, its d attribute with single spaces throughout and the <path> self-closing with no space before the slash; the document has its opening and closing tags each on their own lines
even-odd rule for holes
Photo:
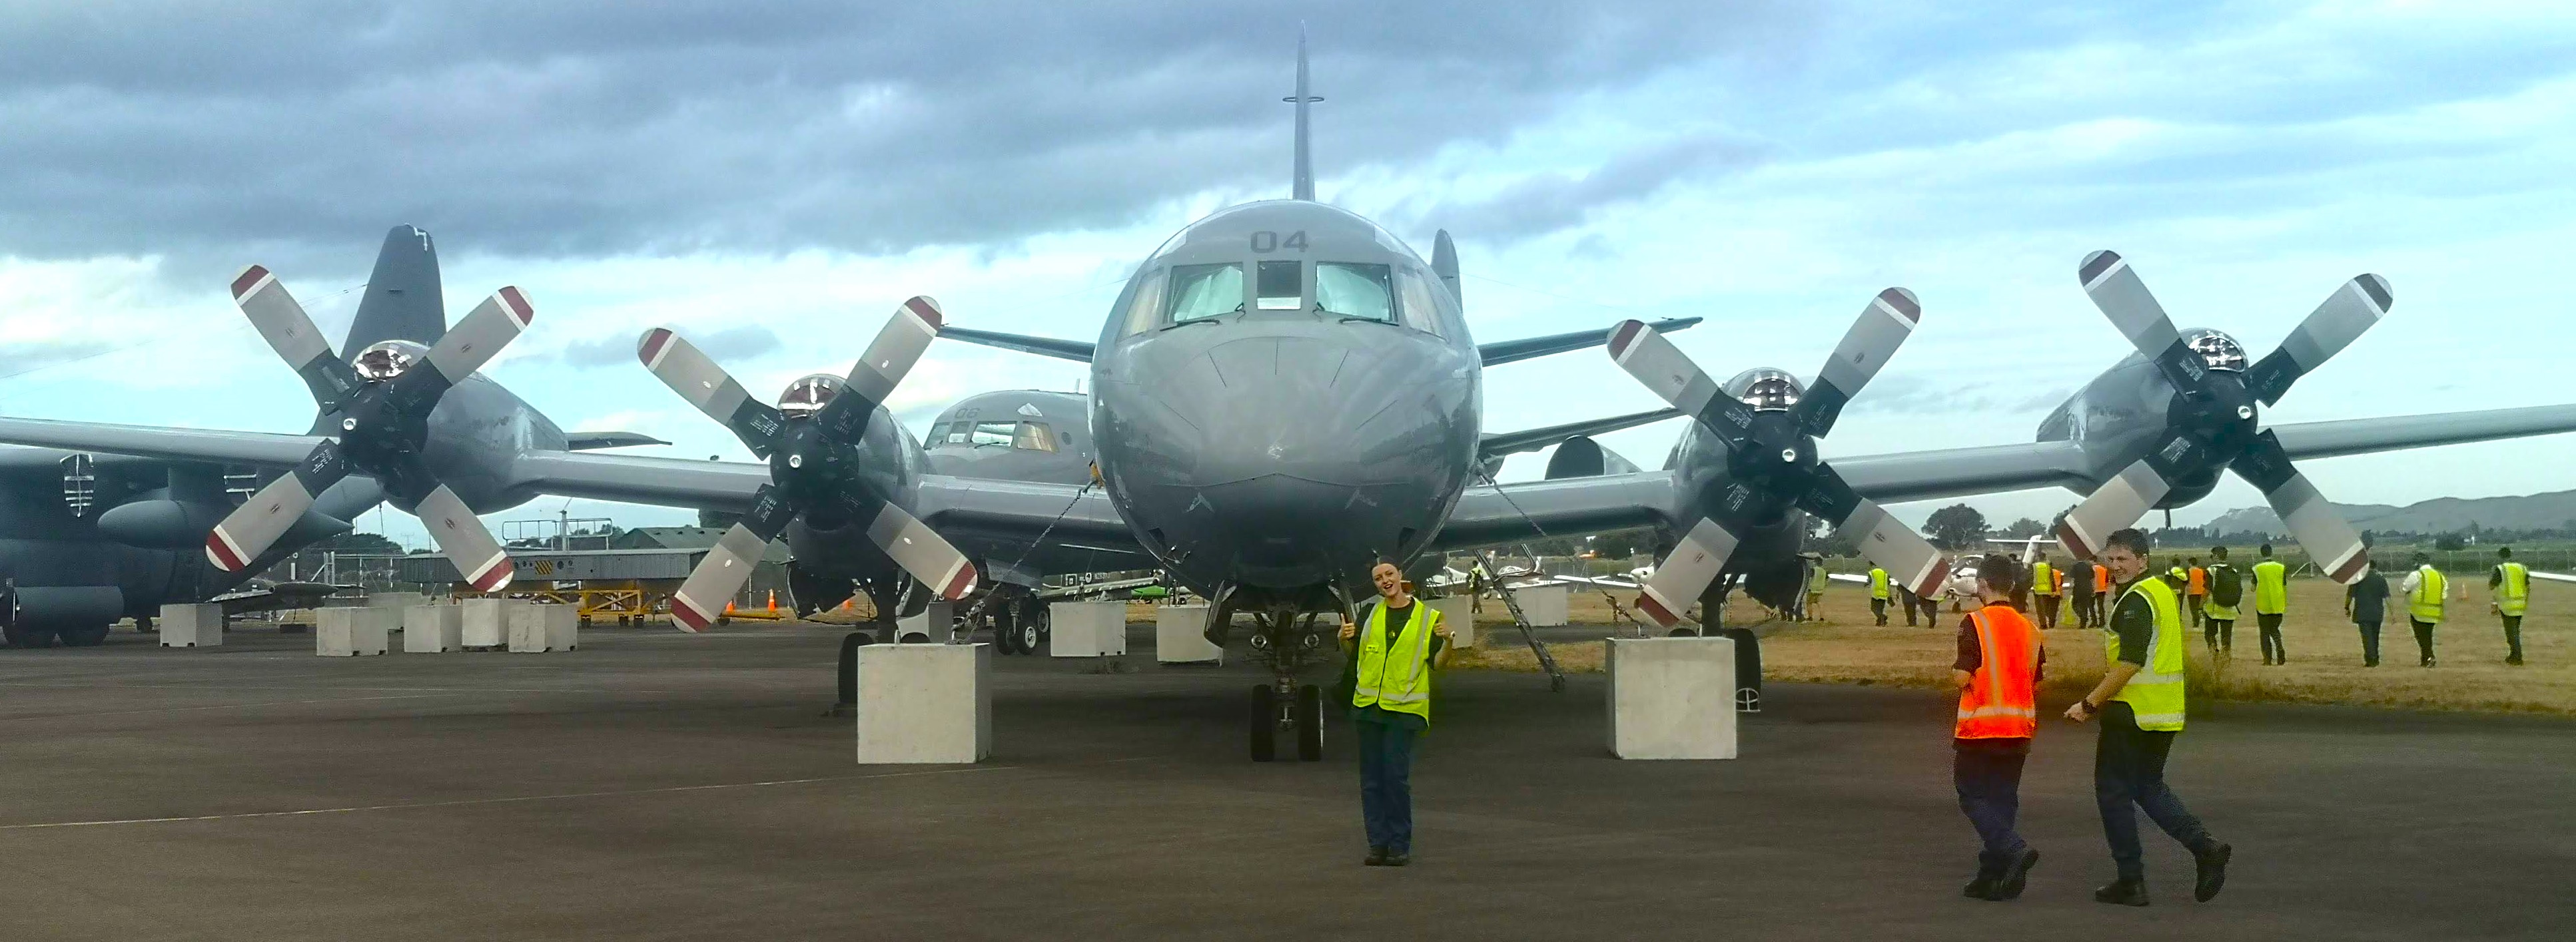
<svg viewBox="0 0 2576 942">
<path fill-rule="evenodd" d="M 2470 584 L 2476 582 L 2476 584 Z M 2290 582 L 2290 615 L 2282 620 L 2287 667 L 2264 667 L 2254 638 L 2254 618 L 2236 625 L 2236 656 L 2215 661 L 2192 633 L 2192 695 L 2226 700 L 2342 703 L 2424 710 L 2481 713 L 2563 713 L 2576 716 L 2576 587 L 2532 584 L 2532 613 L 2522 623 L 2524 667 L 2504 664 L 2504 628 L 2486 610 L 2486 582 L 2455 577 L 2468 600 L 2450 602 L 2450 620 L 2434 633 L 2442 667 L 2416 667 L 2414 633 L 2403 607 L 2380 628 L 2380 667 L 2362 667 L 2360 631 L 2344 620 L 2344 589 L 2326 579 Z M 1620 600 L 1625 605 L 1625 597 Z M 1574 597 L 1574 620 L 1613 625 L 1607 602 L 1597 595 Z M 1759 613 L 1759 607 L 1752 607 Z M 1479 623 L 1497 620 L 1499 605 L 1486 605 Z M 1942 610 L 1940 631 L 1906 628 L 1891 613 L 1891 628 L 1870 623 L 1862 587 L 1834 584 L 1824 597 L 1824 623 L 1759 623 L 1762 672 L 1770 679 L 1837 685 L 1945 687 L 1955 654 L 1958 615 Z M 1739 613 L 1739 618 L 1747 618 Z M 1620 625 L 1625 636 L 1633 628 Z M 1533 672 L 1535 659 L 1512 633 L 1492 633 L 1479 651 L 1461 651 L 1453 669 Z M 2045 633 L 2045 692 L 2074 697 L 2102 677 L 2102 636 L 2058 628 Z M 1597 643 L 1551 646 L 1569 672 L 1597 672 Z"/>
</svg>

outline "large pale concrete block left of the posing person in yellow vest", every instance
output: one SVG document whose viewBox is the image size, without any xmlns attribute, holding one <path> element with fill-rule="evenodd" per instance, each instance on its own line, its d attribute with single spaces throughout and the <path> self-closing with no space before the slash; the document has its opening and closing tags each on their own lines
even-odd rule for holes
<svg viewBox="0 0 2576 942">
<path fill-rule="evenodd" d="M 858 762 L 984 762 L 992 757 L 989 643 L 858 649 Z"/>
</svg>

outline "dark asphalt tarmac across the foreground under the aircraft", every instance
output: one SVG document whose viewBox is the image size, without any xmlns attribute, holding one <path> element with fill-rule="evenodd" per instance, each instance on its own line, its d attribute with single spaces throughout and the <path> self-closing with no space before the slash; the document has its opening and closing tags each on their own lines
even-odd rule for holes
<svg viewBox="0 0 2576 942">
<path fill-rule="evenodd" d="M 1602 677 L 1448 674 L 1417 852 L 1363 867 L 1350 736 L 1244 759 L 1257 672 L 997 656 L 992 762 L 858 767 L 824 625 L 317 659 L 234 631 L 0 651 L 5 939 L 2566 939 L 2576 723 L 2218 705 L 2110 878 L 2089 728 L 2043 726 L 2014 903 L 1958 896 L 1950 700 L 1772 685 L 1736 762 L 1618 762 Z M 1334 726 L 1332 734 L 1342 734 Z"/>
</svg>

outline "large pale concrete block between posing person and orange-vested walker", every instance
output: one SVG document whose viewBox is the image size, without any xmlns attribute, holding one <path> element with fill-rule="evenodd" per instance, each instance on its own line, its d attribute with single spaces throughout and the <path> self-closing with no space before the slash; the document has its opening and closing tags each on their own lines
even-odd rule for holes
<svg viewBox="0 0 2576 942">
<path fill-rule="evenodd" d="M 1736 757 L 1734 638 L 1605 638 L 1610 754 L 1620 759 Z"/>
</svg>

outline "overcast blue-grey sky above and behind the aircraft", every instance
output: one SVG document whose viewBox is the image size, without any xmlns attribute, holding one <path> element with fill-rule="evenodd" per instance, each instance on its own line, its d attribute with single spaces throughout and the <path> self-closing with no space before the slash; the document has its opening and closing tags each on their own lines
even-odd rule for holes
<svg viewBox="0 0 2576 942">
<path fill-rule="evenodd" d="M 639 329 L 755 391 L 845 371 L 912 293 L 1090 340 L 1170 232 L 1285 196 L 1298 21 L 1319 196 L 1425 252 L 1448 226 L 1479 340 L 1700 314 L 1674 340 L 1708 371 L 1811 376 L 1914 288 L 1924 327 L 1826 456 L 2030 440 L 2125 347 L 2074 278 L 2102 247 L 2254 355 L 2385 275 L 2391 317 L 2280 422 L 2576 402 L 2563 3 L 0 0 L 0 412 L 301 432 L 224 281 L 270 265 L 337 329 L 420 224 L 451 311 L 538 306 L 489 376 L 567 430 L 744 456 L 631 363 Z M 896 409 L 1079 376 L 935 345 Z M 1489 430 L 1646 407 L 1600 353 L 1486 373 Z M 1674 435 L 1607 445 L 1654 466 Z M 2576 435 L 2306 463 L 2396 504 L 2571 466 Z"/>
</svg>

